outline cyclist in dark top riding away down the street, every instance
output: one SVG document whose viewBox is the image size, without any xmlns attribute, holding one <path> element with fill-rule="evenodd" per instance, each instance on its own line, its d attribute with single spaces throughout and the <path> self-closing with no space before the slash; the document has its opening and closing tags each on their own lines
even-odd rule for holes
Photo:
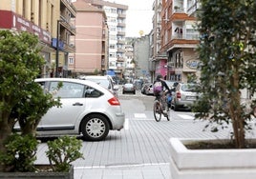
<svg viewBox="0 0 256 179">
<path fill-rule="evenodd" d="M 164 88 L 168 89 L 168 91 L 171 94 L 171 90 L 169 89 L 169 87 L 165 83 L 165 81 L 163 80 L 162 75 L 159 74 L 153 83 L 153 90 L 154 90 L 154 95 L 156 96 L 156 100 L 160 100 L 160 97 L 163 95 Z M 163 112 L 166 113 L 165 103 L 162 103 L 162 109 L 163 109 Z M 169 110 L 169 108 L 167 108 L 167 110 Z"/>
</svg>

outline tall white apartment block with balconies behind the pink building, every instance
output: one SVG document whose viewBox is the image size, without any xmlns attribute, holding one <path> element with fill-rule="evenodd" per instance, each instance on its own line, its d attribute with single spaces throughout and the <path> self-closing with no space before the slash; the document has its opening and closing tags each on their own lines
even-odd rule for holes
<svg viewBox="0 0 256 179">
<path fill-rule="evenodd" d="M 104 10 L 109 27 L 108 70 L 114 70 L 118 77 L 125 66 L 125 26 L 128 7 L 103 0 L 85 0 L 85 2 Z"/>
</svg>

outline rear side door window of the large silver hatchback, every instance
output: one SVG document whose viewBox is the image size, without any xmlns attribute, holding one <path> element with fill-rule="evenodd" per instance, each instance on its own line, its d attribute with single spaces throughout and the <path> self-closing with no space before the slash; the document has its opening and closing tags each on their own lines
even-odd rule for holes
<svg viewBox="0 0 256 179">
<path fill-rule="evenodd" d="M 49 86 L 49 91 L 53 94 L 53 97 L 61 98 L 81 98 L 84 93 L 84 85 L 62 82 L 62 87 L 57 89 L 59 82 L 51 82 Z"/>
</svg>

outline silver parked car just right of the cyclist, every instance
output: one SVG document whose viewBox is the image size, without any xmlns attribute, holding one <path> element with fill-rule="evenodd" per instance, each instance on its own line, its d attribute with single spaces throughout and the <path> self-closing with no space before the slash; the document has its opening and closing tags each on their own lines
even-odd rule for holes
<svg viewBox="0 0 256 179">
<path fill-rule="evenodd" d="M 179 83 L 173 94 L 171 107 L 174 110 L 191 109 L 191 106 L 198 98 L 198 93 L 195 91 L 196 84 Z"/>
</svg>

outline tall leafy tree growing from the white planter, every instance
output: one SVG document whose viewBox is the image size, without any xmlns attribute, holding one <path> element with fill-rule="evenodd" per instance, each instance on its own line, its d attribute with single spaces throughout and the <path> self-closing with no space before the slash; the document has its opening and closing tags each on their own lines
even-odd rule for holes
<svg viewBox="0 0 256 179">
<path fill-rule="evenodd" d="M 252 110 L 245 111 L 241 89 L 256 89 L 256 1 L 201 0 L 198 48 L 202 93 L 197 118 L 209 119 L 212 130 L 231 122 L 237 148 L 245 148 Z M 250 108 L 256 106 L 252 100 Z M 209 125 L 209 126 L 211 126 Z"/>
</svg>

